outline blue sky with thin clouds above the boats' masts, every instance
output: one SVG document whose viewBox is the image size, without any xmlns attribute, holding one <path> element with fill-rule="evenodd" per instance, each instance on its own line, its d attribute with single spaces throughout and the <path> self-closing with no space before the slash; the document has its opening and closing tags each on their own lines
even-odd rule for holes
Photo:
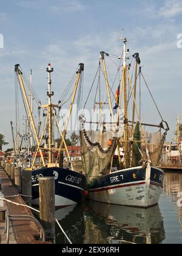
<svg viewBox="0 0 182 256">
<path fill-rule="evenodd" d="M 86 99 L 99 52 L 121 55 L 122 29 L 131 38 L 130 52 L 140 53 L 147 83 L 169 123 L 170 140 L 178 113 L 182 122 L 181 15 L 181 0 L 1 0 L 0 133 L 10 143 L 8 148 L 12 146 L 10 121 L 15 122 L 15 64 L 19 63 L 27 76 L 33 69 L 33 87 L 44 99 L 49 62 L 55 69 L 53 86 L 59 96 L 78 63 L 84 63 Z M 147 97 L 143 103 L 146 121 L 159 123 Z"/>
</svg>

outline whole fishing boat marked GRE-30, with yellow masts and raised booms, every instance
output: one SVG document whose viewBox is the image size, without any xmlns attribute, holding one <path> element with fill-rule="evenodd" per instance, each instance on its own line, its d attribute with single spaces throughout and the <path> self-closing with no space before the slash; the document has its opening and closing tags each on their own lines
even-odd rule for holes
<svg viewBox="0 0 182 256">
<path fill-rule="evenodd" d="M 38 110 L 43 109 L 43 116 L 45 118 L 44 127 L 40 132 L 40 125 L 36 127 L 35 118 L 33 118 L 32 109 L 27 96 L 26 88 L 30 88 L 29 82 L 25 79 L 24 73 L 19 65 L 15 65 L 15 73 L 18 79 L 22 99 L 24 102 L 27 118 L 30 119 L 30 127 L 35 140 L 36 151 L 33 155 L 32 166 L 27 168 L 28 171 L 32 171 L 32 204 L 39 204 L 39 177 L 55 177 L 55 205 L 56 207 L 65 207 L 68 205 L 74 205 L 81 201 L 86 177 L 79 172 L 73 170 L 72 162 L 69 156 L 69 151 L 66 144 L 66 132 L 69 124 L 70 115 L 72 113 L 73 103 L 75 101 L 76 91 L 79 86 L 81 75 L 84 71 L 84 65 L 80 64 L 76 70 L 76 83 L 73 90 L 72 102 L 70 104 L 69 115 L 67 117 L 67 123 L 62 132 L 59 126 L 59 110 L 61 108 L 61 102 L 58 104 L 52 103 L 54 93 L 52 91 L 52 66 L 49 64 L 47 68 L 49 74 L 49 89 L 47 96 L 49 98 L 48 104 L 42 105 L 38 102 Z M 26 87 L 25 87 L 26 85 Z M 33 97 L 37 99 L 35 91 L 32 91 Z M 40 115 L 39 115 L 40 116 Z M 39 123 L 40 124 L 40 123 Z M 60 146 L 55 147 L 55 127 L 59 132 Z M 67 168 L 63 167 L 63 152 L 66 151 L 69 156 L 69 165 Z"/>
</svg>

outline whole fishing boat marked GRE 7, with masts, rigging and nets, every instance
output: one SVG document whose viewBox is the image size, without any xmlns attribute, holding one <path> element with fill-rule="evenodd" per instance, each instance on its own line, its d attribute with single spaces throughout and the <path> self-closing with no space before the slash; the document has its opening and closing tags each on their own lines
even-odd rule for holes
<svg viewBox="0 0 182 256">
<path fill-rule="evenodd" d="M 163 144 L 169 127 L 161 116 L 157 104 L 141 72 L 141 60 L 138 53 L 127 57 L 127 39 L 123 38 L 123 65 L 117 66 L 120 76 L 119 87 L 113 93 L 107 76 L 106 57 L 114 55 L 101 52 L 99 61 L 99 75 L 104 74 L 109 101 L 109 116 L 111 121 L 103 117 L 103 107 L 108 104 L 101 100 L 101 88 L 98 82 L 96 90 L 99 94 L 99 121 L 87 121 L 86 116 L 80 116 L 80 137 L 83 148 L 83 165 L 87 173 L 89 199 L 107 204 L 127 205 L 133 207 L 151 207 L 156 205 L 163 188 L 164 172 L 158 168 Z M 133 85 L 130 77 L 131 64 L 135 77 Z M 101 67 L 102 63 L 102 67 Z M 114 60 L 115 63 L 115 60 Z M 140 68 L 138 68 L 140 66 Z M 122 72 L 120 72 L 120 68 Z M 134 72 L 135 70 L 135 72 Z M 160 114 L 160 124 L 147 124 L 141 121 L 141 84 L 140 110 L 137 105 L 138 77 L 143 77 L 152 101 Z M 101 78 L 99 77 L 98 81 Z M 116 80 L 116 79 L 115 79 Z M 115 96 L 113 107 L 112 96 Z M 131 104 L 131 105 L 129 105 Z M 129 108 L 132 110 L 129 115 Z M 106 113 L 106 112 L 105 112 Z M 114 115 L 115 114 L 115 115 Z M 150 115 L 147 116 L 150 118 Z M 88 128 L 87 124 L 90 124 Z M 151 122 L 152 123 L 152 122 Z M 96 124 L 96 129 L 93 129 Z M 152 133 L 148 129 L 158 129 Z M 115 165 L 116 158 L 118 163 Z"/>
</svg>

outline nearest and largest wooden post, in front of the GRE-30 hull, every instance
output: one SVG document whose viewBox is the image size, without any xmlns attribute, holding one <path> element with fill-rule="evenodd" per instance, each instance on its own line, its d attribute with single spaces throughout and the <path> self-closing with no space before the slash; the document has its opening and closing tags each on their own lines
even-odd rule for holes
<svg viewBox="0 0 182 256">
<path fill-rule="evenodd" d="M 47 240 L 55 241 L 55 178 L 39 178 L 39 210 Z"/>
</svg>

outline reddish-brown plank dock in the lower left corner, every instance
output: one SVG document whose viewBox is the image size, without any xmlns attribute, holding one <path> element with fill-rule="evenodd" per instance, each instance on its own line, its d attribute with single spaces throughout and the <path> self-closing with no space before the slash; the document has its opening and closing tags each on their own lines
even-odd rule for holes
<svg viewBox="0 0 182 256">
<path fill-rule="evenodd" d="M 9 199 L 18 204 L 26 205 L 22 197 L 19 196 L 18 191 L 12 185 L 10 178 L 5 171 L 0 167 L 0 183 L 1 194 L 5 199 Z M 33 216 L 30 208 L 24 206 L 18 206 L 10 202 L 4 202 L 2 205 L 0 200 L 0 211 L 6 210 L 8 215 L 29 215 Z M 5 222 L 0 222 L 0 244 L 6 243 L 7 234 L 4 233 Z M 35 222 L 31 221 L 10 221 L 10 244 L 37 244 L 43 243 L 39 241 L 40 229 Z"/>
</svg>

